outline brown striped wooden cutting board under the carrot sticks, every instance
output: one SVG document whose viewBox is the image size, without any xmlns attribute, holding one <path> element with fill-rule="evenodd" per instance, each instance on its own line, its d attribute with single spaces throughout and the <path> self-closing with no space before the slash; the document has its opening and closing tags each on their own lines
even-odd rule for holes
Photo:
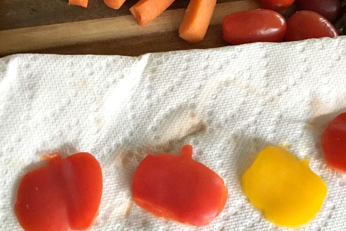
<svg viewBox="0 0 346 231">
<path fill-rule="evenodd" d="M 68 0 L 0 2 L 0 56 L 15 53 L 107 54 L 138 56 L 148 52 L 214 48 L 222 39 L 223 18 L 236 11 L 258 8 L 256 0 L 218 0 L 205 39 L 190 44 L 178 36 L 188 0 L 176 0 L 154 21 L 139 26 L 127 0 L 118 10 L 103 0 L 88 8 Z"/>
</svg>

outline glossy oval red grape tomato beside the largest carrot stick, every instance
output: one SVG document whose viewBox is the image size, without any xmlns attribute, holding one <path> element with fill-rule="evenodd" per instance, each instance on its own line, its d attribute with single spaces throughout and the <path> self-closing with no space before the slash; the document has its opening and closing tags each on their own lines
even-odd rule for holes
<svg viewBox="0 0 346 231">
<path fill-rule="evenodd" d="M 231 44 L 281 42 L 286 33 L 286 20 L 270 9 L 254 9 L 227 15 L 222 22 L 225 41 Z"/>
</svg>

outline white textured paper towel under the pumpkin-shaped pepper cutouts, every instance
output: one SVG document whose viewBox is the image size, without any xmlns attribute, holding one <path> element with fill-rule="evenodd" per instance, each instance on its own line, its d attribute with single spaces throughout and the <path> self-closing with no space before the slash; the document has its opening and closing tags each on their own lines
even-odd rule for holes
<svg viewBox="0 0 346 231">
<path fill-rule="evenodd" d="M 301 231 L 346 230 L 346 176 L 320 147 L 328 122 L 346 111 L 346 37 L 255 43 L 141 57 L 14 55 L 0 59 L 0 230 L 20 231 L 13 213 L 22 176 L 39 157 L 91 152 L 104 192 L 91 231 L 268 231 L 240 177 L 254 155 L 283 145 L 328 186 L 317 217 Z M 178 153 L 215 170 L 229 188 L 209 226 L 151 216 L 133 203 L 131 177 L 148 153 Z"/>
</svg>

